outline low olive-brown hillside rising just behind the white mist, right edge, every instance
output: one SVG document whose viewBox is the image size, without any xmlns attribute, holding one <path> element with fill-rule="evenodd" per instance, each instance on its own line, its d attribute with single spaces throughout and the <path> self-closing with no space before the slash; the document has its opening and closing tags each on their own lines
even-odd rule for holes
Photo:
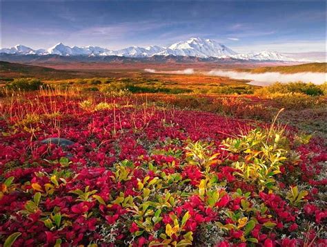
<svg viewBox="0 0 327 247">
<path fill-rule="evenodd" d="M 298 64 L 290 66 L 269 66 L 252 69 L 240 69 L 238 71 L 245 71 L 250 73 L 266 73 L 266 72 L 279 72 L 279 73 L 301 73 L 301 72 L 316 72 L 316 73 L 327 73 L 327 63 L 310 63 L 310 64 Z"/>
</svg>

